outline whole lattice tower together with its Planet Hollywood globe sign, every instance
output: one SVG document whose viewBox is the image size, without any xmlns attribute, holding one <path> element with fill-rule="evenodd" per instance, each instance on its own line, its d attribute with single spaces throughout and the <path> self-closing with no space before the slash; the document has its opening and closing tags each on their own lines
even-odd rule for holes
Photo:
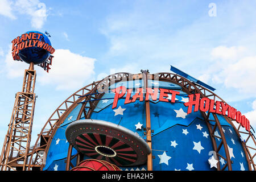
<svg viewBox="0 0 256 182">
<path fill-rule="evenodd" d="M 36 96 L 34 93 L 36 71 L 39 65 L 49 71 L 52 64 L 51 46 L 47 35 L 38 31 L 29 31 L 13 41 L 12 54 L 16 61 L 24 61 L 29 68 L 24 72 L 22 91 L 17 92 L 11 120 L 3 142 L 0 158 L 1 171 L 26 171 L 30 156 L 30 141 Z"/>
</svg>

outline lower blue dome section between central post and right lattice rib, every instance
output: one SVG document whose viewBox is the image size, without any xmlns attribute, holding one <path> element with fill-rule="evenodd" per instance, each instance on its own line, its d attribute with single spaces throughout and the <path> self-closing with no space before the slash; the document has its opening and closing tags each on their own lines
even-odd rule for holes
<svg viewBox="0 0 256 182">
<path fill-rule="evenodd" d="M 200 125 L 201 130 L 197 129 L 196 125 Z M 187 130 L 185 135 L 183 130 Z M 162 151 L 152 151 L 155 156 L 153 160 L 153 169 L 157 171 L 174 171 L 175 169 L 187 171 L 188 164 L 193 167 L 193 170 L 214 170 L 210 168 L 208 159 L 212 156 L 210 151 L 213 151 L 210 137 L 204 137 L 203 132 L 208 133 L 205 122 L 196 119 L 188 127 L 176 125 L 167 130 L 162 131 L 152 137 L 152 149 Z M 208 133 L 209 134 L 209 133 Z M 175 145 L 171 146 L 171 141 Z M 199 143 L 202 150 L 193 150 L 195 143 Z M 175 147 L 174 147 L 175 146 Z M 166 151 L 166 158 L 164 152 Z M 160 158 L 163 158 L 161 161 Z M 165 160 L 164 160 L 165 159 Z"/>
</svg>

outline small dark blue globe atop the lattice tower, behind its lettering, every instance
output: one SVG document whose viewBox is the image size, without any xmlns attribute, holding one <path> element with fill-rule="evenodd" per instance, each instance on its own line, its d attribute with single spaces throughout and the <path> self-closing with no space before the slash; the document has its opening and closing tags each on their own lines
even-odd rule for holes
<svg viewBox="0 0 256 182">
<path fill-rule="evenodd" d="M 28 31 L 26 32 L 26 34 L 29 34 L 31 32 L 42 34 L 38 40 L 51 46 L 51 42 L 45 34 L 39 31 Z M 49 53 L 46 49 L 40 47 L 27 47 L 20 50 L 18 55 L 22 61 L 28 64 L 30 64 L 31 62 L 34 64 L 41 64 L 44 61 L 48 60 L 51 53 Z"/>
</svg>

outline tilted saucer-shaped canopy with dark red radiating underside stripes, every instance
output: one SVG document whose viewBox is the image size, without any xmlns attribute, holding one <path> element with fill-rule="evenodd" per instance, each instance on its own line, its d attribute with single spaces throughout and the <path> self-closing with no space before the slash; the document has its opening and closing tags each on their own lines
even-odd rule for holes
<svg viewBox="0 0 256 182">
<path fill-rule="evenodd" d="M 74 121 L 67 127 L 65 135 L 82 154 L 117 166 L 144 164 L 151 152 L 148 144 L 133 131 L 97 119 Z"/>
</svg>

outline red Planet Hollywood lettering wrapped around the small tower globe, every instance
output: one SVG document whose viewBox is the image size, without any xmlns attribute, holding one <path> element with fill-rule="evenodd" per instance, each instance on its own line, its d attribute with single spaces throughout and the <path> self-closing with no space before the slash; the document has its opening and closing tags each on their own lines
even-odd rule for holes
<svg viewBox="0 0 256 182">
<path fill-rule="evenodd" d="M 27 47 L 40 47 L 46 49 L 46 51 L 53 54 L 53 52 L 55 52 L 55 49 L 49 44 L 40 41 L 40 36 L 43 36 L 43 34 L 30 32 L 29 34 L 22 34 L 22 36 L 18 36 L 16 39 L 14 39 L 11 42 L 13 43 L 13 47 L 11 49 L 11 51 L 13 51 L 13 59 L 16 60 L 19 51 Z"/>
</svg>

